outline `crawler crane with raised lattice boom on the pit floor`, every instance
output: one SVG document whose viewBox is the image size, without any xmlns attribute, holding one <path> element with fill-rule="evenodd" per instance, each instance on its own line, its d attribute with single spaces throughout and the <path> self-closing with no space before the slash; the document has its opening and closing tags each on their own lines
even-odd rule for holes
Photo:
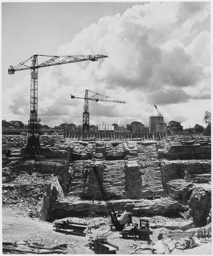
<svg viewBox="0 0 213 256">
<path fill-rule="evenodd" d="M 104 187 L 103 181 L 100 177 L 99 171 L 97 169 L 97 166 L 92 166 L 93 171 L 95 173 L 95 177 L 97 178 L 100 191 L 102 192 L 104 201 L 106 203 L 106 207 L 109 210 L 109 223 L 113 224 L 111 225 L 112 230 L 122 230 L 123 227 L 125 227 L 125 224 L 132 222 L 132 213 L 126 212 L 126 211 L 116 211 L 113 208 L 113 205 L 109 199 L 109 196 L 107 194 L 107 191 Z"/>
</svg>

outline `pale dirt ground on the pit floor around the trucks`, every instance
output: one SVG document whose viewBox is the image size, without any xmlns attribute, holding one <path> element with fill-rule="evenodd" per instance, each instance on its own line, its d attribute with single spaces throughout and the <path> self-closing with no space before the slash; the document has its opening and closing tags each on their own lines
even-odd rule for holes
<svg viewBox="0 0 213 256">
<path fill-rule="evenodd" d="M 14 209 L 12 209 L 14 208 Z M 99 254 L 97 249 L 89 249 L 89 242 L 91 239 L 104 235 L 108 242 L 117 245 L 119 251 L 116 254 L 153 254 L 153 245 L 158 241 L 159 233 L 164 234 L 164 238 L 169 238 L 172 232 L 158 228 L 153 229 L 153 235 L 150 235 L 150 240 L 140 240 L 137 237 L 129 237 L 129 239 L 121 238 L 119 231 L 110 231 L 108 219 L 104 217 L 87 217 L 87 218 L 71 218 L 72 221 L 86 223 L 88 226 L 95 226 L 91 228 L 92 233 L 86 233 L 85 237 L 77 235 L 70 235 L 56 232 L 53 224 L 45 221 L 40 221 L 28 216 L 26 208 L 4 207 L 2 209 L 2 242 L 18 242 L 28 241 L 29 243 L 37 242 L 46 247 L 53 247 L 60 244 L 68 244 L 66 254 Z M 134 221 L 137 221 L 136 219 Z M 183 243 L 184 237 L 188 237 L 187 233 L 179 234 L 179 237 L 174 237 L 174 242 L 178 242 L 181 237 Z M 180 247 L 181 248 L 181 247 Z M 198 252 L 199 247 L 196 248 Z M 172 254 L 187 254 L 182 249 L 175 250 Z M 188 250 L 188 252 L 190 252 Z M 209 250 L 210 252 L 210 250 Z M 190 253 L 189 253 L 190 254 Z M 202 254 L 196 253 L 196 254 Z M 206 253 L 210 254 L 210 253 Z"/>
</svg>

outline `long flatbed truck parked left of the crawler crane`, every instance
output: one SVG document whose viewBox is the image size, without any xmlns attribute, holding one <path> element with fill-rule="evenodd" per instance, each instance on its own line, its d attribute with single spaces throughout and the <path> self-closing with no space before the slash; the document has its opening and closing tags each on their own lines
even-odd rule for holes
<svg viewBox="0 0 213 256">
<path fill-rule="evenodd" d="M 67 221 L 58 221 L 53 224 L 53 227 L 56 228 L 56 230 L 72 230 L 74 233 L 81 233 L 83 234 L 84 230 L 87 227 L 87 224 L 84 223 L 77 223 L 72 222 L 72 220 L 67 219 Z"/>
</svg>

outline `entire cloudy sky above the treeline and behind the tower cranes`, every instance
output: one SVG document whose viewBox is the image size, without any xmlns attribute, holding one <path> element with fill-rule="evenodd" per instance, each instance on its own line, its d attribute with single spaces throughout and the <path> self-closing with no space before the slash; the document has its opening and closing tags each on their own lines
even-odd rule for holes
<svg viewBox="0 0 213 256">
<path fill-rule="evenodd" d="M 41 124 L 82 124 L 91 90 L 118 101 L 89 101 L 90 125 L 149 126 L 158 111 L 183 129 L 211 111 L 210 1 L 7 2 L 2 4 L 2 120 L 30 118 L 31 56 L 106 55 L 39 69 Z M 51 57 L 49 57 L 51 58 Z M 38 56 L 38 64 L 46 59 Z M 92 94 L 89 95 L 89 97 Z"/>
</svg>

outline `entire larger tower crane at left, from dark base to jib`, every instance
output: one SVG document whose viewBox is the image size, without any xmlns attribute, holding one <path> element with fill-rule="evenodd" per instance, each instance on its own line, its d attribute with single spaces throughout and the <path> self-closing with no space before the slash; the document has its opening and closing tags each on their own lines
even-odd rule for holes
<svg viewBox="0 0 213 256">
<path fill-rule="evenodd" d="M 38 64 L 38 56 L 51 57 L 42 64 Z M 106 58 L 104 55 L 74 55 L 74 56 L 49 56 L 35 54 L 24 60 L 15 67 L 10 66 L 8 74 L 14 74 L 16 71 L 31 69 L 30 79 L 30 120 L 28 121 L 28 142 L 25 154 L 38 155 L 39 148 L 39 122 L 38 120 L 38 70 L 40 67 L 50 67 L 55 65 L 81 62 L 85 60 L 97 61 L 99 58 Z M 28 64 L 29 63 L 29 64 Z"/>
</svg>

